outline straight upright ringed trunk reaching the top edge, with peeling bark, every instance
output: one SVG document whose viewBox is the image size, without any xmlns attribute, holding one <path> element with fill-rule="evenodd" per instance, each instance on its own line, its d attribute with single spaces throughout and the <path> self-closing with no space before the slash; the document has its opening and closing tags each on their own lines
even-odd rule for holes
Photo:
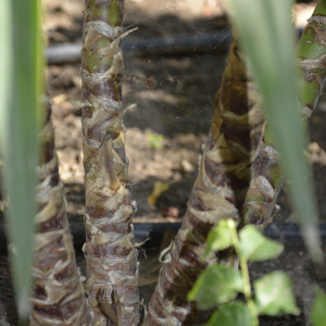
<svg viewBox="0 0 326 326">
<path fill-rule="evenodd" d="M 124 148 L 121 39 L 124 1 L 86 0 L 82 50 L 83 150 L 86 191 L 88 297 L 95 325 L 139 321 L 137 250 L 133 235 L 136 202 L 130 199 Z M 104 298 L 103 298 L 104 297 Z M 114 299 L 115 298 L 115 299 Z M 103 300 L 122 316 L 105 313 Z M 105 305 L 108 306 L 108 304 Z M 109 322 L 108 322 L 109 323 Z"/>
</svg>

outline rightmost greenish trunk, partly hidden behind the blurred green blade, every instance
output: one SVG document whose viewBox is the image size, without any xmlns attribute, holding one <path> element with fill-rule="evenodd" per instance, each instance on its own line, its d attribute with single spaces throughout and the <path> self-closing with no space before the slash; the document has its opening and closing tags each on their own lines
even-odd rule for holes
<svg viewBox="0 0 326 326">
<path fill-rule="evenodd" d="M 325 15 L 326 7 L 323 1 L 319 1 L 297 46 L 299 96 L 304 120 L 311 116 L 325 84 Z M 254 224 L 263 229 L 272 222 L 272 212 L 283 181 L 284 175 L 278 152 L 268 140 L 265 140 L 256 160 L 253 179 L 241 212 L 243 224 Z"/>
</svg>

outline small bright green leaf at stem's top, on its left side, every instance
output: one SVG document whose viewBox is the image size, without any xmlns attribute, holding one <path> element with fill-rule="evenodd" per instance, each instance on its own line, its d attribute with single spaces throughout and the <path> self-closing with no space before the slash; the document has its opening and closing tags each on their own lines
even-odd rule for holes
<svg viewBox="0 0 326 326">
<path fill-rule="evenodd" d="M 212 251 L 223 250 L 233 244 L 230 229 L 227 221 L 222 220 L 210 233 L 206 239 L 208 246 L 204 256 Z"/>
</svg>

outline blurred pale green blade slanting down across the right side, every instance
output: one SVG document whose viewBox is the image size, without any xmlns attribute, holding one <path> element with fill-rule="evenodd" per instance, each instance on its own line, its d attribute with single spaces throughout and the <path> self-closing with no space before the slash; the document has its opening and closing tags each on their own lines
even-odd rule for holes
<svg viewBox="0 0 326 326">
<path fill-rule="evenodd" d="M 264 98 L 268 123 L 283 166 L 289 179 L 289 192 L 314 262 L 322 262 L 316 227 L 317 209 L 311 170 L 304 156 L 306 130 L 300 116 L 296 87 L 294 28 L 292 1 L 229 0 L 240 43 Z"/>
</svg>

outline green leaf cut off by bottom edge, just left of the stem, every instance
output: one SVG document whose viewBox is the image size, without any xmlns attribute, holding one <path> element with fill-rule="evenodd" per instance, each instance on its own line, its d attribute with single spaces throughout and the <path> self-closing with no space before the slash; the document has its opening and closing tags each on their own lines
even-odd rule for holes
<svg viewBox="0 0 326 326">
<path fill-rule="evenodd" d="M 241 301 L 231 301 L 216 310 L 206 326 L 252 326 L 248 306 Z"/>
</svg>

